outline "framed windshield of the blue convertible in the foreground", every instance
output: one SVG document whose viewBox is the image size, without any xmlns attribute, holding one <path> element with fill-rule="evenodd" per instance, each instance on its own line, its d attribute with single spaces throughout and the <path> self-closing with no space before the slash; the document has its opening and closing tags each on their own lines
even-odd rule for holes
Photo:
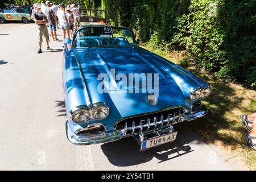
<svg viewBox="0 0 256 182">
<path fill-rule="evenodd" d="M 133 32 L 126 28 L 88 27 L 80 29 L 73 46 L 80 47 L 109 47 L 136 46 Z"/>
</svg>

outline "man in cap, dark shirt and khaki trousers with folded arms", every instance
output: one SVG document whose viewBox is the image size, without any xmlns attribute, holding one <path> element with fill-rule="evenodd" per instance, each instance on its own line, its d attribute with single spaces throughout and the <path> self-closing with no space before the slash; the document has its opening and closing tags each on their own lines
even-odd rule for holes
<svg viewBox="0 0 256 182">
<path fill-rule="evenodd" d="M 32 14 L 32 17 L 36 23 L 36 29 L 38 31 L 38 46 L 39 46 L 38 53 L 41 53 L 43 35 L 46 38 L 47 50 L 52 50 L 52 49 L 49 47 L 49 34 L 46 26 L 46 23 L 48 23 L 48 20 L 46 18 L 46 14 L 42 13 L 40 4 L 36 4 L 35 9 L 36 11 Z"/>
</svg>

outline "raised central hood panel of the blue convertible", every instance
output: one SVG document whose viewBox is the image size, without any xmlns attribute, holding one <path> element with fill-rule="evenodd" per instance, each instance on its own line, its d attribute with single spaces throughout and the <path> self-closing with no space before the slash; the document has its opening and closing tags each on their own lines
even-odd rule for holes
<svg viewBox="0 0 256 182">
<path fill-rule="evenodd" d="M 109 79 L 104 79 L 104 82 L 109 90 L 137 89 L 144 87 L 144 84 L 156 86 L 174 82 L 172 77 L 155 62 L 152 55 L 142 55 L 135 47 L 89 48 L 88 53 L 101 76 L 108 76 Z M 136 73 L 137 75 L 134 75 Z M 118 75 L 122 78 L 118 78 Z M 131 81 L 128 79 L 129 76 L 130 78 L 138 76 L 137 84 L 135 80 L 133 84 L 129 83 Z"/>
</svg>

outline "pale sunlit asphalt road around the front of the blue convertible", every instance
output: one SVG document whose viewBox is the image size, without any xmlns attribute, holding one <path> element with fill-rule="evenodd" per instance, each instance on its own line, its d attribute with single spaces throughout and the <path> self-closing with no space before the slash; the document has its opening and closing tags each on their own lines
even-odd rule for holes
<svg viewBox="0 0 256 182">
<path fill-rule="evenodd" d="M 133 138 L 93 146 L 70 143 L 62 44 L 51 42 L 55 50 L 50 52 L 43 42 L 44 52 L 38 54 L 35 24 L 0 24 L 1 170 L 233 169 L 184 124 L 176 127 L 176 142 L 146 152 L 139 152 Z"/>
</svg>

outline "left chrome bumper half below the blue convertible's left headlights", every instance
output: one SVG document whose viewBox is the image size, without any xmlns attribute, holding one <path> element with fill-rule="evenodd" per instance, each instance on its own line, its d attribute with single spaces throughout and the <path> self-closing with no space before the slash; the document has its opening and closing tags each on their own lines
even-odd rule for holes
<svg viewBox="0 0 256 182">
<path fill-rule="evenodd" d="M 124 135 L 124 131 L 101 132 L 94 135 L 91 135 L 90 133 L 77 135 L 75 133 L 72 133 L 67 121 L 66 134 L 67 134 L 68 140 L 73 144 L 90 145 L 90 144 L 97 144 L 97 143 L 113 142 L 115 140 L 121 139 Z"/>
</svg>

